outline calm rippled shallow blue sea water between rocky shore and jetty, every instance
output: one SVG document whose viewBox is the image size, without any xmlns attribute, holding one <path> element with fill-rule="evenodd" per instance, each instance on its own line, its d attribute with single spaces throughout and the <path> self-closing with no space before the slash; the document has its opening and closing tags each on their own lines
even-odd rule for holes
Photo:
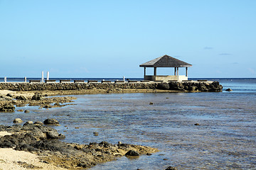
<svg viewBox="0 0 256 170">
<path fill-rule="evenodd" d="M 74 106 L 16 108 L 31 112 L 4 113 L 0 124 L 56 118 L 66 142 L 121 141 L 160 150 L 92 169 L 256 169 L 256 79 L 216 80 L 233 91 L 79 95 Z"/>
</svg>

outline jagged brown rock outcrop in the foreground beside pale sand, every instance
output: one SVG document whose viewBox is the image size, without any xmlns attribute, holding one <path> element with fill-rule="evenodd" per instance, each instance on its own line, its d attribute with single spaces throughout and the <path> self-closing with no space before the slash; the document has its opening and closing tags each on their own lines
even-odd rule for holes
<svg viewBox="0 0 256 170">
<path fill-rule="evenodd" d="M 58 121 L 53 119 L 45 120 L 44 123 L 58 125 Z M 112 161 L 124 155 L 139 157 L 140 154 L 151 155 L 153 152 L 158 152 L 158 149 L 151 147 L 128 145 L 121 142 L 116 145 L 105 141 L 91 142 L 88 145 L 62 142 L 60 139 L 65 138 L 65 135 L 59 134 L 57 130 L 43 125 L 41 122 L 29 121 L 23 125 L 13 126 L 0 125 L 0 131 L 12 134 L 0 137 L 0 148 L 32 152 L 40 156 L 41 162 L 65 169 L 90 168 L 98 163 Z M 18 164 L 18 160 L 16 164 Z"/>
</svg>

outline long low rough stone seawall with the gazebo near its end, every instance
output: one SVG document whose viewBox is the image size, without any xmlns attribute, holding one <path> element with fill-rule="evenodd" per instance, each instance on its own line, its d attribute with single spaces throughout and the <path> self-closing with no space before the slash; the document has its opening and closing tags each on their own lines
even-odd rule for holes
<svg viewBox="0 0 256 170">
<path fill-rule="evenodd" d="M 218 81 L 137 82 L 137 83 L 0 83 L 0 90 L 65 91 L 82 89 L 161 89 L 171 91 L 222 91 Z"/>
</svg>

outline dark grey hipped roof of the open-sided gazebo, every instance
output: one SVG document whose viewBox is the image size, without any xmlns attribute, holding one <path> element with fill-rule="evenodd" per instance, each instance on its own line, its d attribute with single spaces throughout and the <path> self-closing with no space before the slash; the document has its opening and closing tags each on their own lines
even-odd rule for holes
<svg viewBox="0 0 256 170">
<path fill-rule="evenodd" d="M 169 55 L 158 57 L 144 64 L 140 64 L 139 67 L 191 67 L 191 64 L 183 62 Z"/>
</svg>

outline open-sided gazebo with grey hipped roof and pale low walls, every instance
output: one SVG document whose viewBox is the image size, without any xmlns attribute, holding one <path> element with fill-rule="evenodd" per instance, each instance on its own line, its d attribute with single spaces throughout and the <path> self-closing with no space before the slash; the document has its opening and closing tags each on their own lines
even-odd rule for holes
<svg viewBox="0 0 256 170">
<path fill-rule="evenodd" d="M 188 80 L 188 67 L 191 67 L 191 64 L 187 62 L 183 62 L 169 55 L 164 55 L 162 57 L 158 57 L 149 62 L 145 62 L 144 64 L 140 64 L 139 67 L 144 67 L 144 80 L 152 80 L 152 81 L 182 81 Z M 154 67 L 154 75 L 146 75 L 146 67 Z M 156 75 L 157 67 L 174 67 L 174 76 L 159 76 Z M 178 75 L 178 68 L 186 67 L 186 75 Z"/>
</svg>

